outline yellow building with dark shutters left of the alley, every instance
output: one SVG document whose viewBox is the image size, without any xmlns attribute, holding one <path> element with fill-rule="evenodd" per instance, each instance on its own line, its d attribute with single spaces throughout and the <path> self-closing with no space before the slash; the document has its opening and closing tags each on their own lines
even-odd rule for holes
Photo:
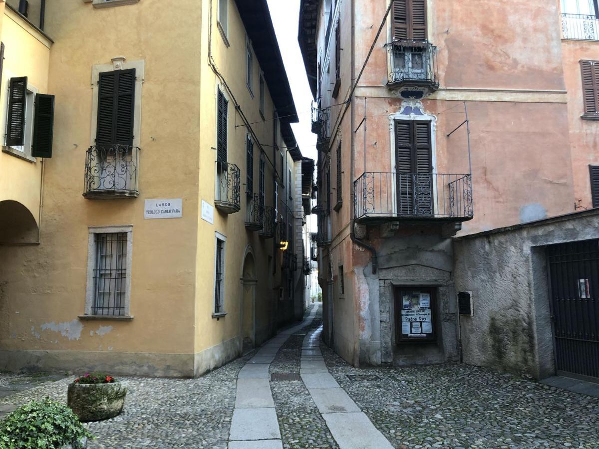
<svg viewBox="0 0 599 449">
<path fill-rule="evenodd" d="M 199 375 L 301 315 L 283 242 L 309 192 L 265 0 L 11 0 L 1 26 L 0 102 L 26 76 L 53 143 L 34 157 L 29 117 L 2 142 L 0 369 Z"/>
</svg>

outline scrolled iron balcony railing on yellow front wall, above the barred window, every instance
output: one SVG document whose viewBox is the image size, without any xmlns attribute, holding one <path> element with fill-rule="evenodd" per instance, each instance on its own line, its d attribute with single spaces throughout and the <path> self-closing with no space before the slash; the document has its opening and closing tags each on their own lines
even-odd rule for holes
<svg viewBox="0 0 599 449">
<path fill-rule="evenodd" d="M 86 151 L 83 196 L 87 199 L 135 198 L 140 148 L 93 145 Z"/>
</svg>

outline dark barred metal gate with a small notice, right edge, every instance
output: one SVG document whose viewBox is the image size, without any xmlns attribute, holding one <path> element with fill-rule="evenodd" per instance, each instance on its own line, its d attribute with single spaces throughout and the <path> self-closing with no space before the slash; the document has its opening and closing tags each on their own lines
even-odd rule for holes
<svg viewBox="0 0 599 449">
<path fill-rule="evenodd" d="M 599 239 L 547 247 L 558 374 L 599 382 Z"/>
</svg>

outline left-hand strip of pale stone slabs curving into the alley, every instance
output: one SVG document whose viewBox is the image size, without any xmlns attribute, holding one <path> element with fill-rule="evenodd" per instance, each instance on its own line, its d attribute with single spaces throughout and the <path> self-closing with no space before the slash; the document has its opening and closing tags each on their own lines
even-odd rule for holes
<svg viewBox="0 0 599 449">
<path fill-rule="evenodd" d="M 279 420 L 274 408 L 268 371 L 289 336 L 313 320 L 317 306 L 301 324 L 270 339 L 241 368 L 237 377 L 235 408 L 229 431 L 229 449 L 282 449 Z M 322 365 L 324 361 L 322 360 Z"/>
</svg>

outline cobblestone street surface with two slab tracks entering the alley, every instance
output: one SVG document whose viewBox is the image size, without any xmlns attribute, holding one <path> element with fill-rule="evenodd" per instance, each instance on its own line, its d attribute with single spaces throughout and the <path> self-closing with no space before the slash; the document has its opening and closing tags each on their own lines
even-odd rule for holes
<svg viewBox="0 0 599 449">
<path fill-rule="evenodd" d="M 356 369 L 321 344 L 322 363 L 316 346 L 320 323 L 318 311 L 313 320 L 280 334 L 259 351 L 201 378 L 122 378 L 129 388 L 125 411 L 112 420 L 86 424 L 96 436 L 89 447 L 381 447 L 378 443 L 361 445 L 358 437 L 364 432 L 371 432 L 372 438 L 384 435 L 395 448 L 599 447 L 599 399 L 459 364 Z M 248 362 L 255 356 L 256 365 L 252 366 Z M 268 357 L 272 359 L 270 367 L 262 375 L 261 366 L 268 366 Z M 328 382 L 328 373 L 338 384 L 329 386 L 329 392 L 321 388 L 324 384 L 311 384 L 311 379 L 321 376 L 322 383 Z M 359 377 L 348 377 L 352 375 Z M 14 375 L 0 377 L 0 386 L 25 382 Z M 258 445 L 229 442 L 245 439 L 231 438 L 237 432 L 231 425 L 234 411 L 265 406 L 243 405 L 240 398 L 236 404 L 236 392 L 238 396 L 243 393 L 238 377 L 270 385 L 279 430 L 274 429 L 275 436 L 269 441 L 253 442 Z M 29 389 L 7 392 L 0 398 L 0 409 L 44 396 L 66 401 L 66 387 L 72 378 L 57 379 L 37 378 Z M 321 393 L 324 396 L 319 396 Z M 368 427 L 368 419 L 358 424 L 352 421 L 349 430 L 356 439 L 347 442 L 341 427 L 335 426 L 335 413 L 326 405 L 325 393 L 341 398 L 337 399 L 343 403 L 338 412 L 347 412 L 353 419 L 362 411 L 380 433 Z M 264 394 L 270 398 L 268 389 Z M 349 398 L 343 399 L 346 396 Z M 352 409 L 356 405 L 358 408 Z M 362 425 L 366 430 L 360 430 Z"/>
</svg>

